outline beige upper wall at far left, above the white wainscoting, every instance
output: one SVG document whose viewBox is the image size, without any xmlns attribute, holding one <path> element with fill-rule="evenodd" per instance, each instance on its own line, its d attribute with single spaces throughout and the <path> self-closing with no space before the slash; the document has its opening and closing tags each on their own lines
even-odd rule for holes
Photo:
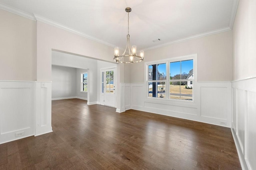
<svg viewBox="0 0 256 170">
<path fill-rule="evenodd" d="M 0 9 L 0 80 L 36 80 L 36 22 Z"/>
</svg>

